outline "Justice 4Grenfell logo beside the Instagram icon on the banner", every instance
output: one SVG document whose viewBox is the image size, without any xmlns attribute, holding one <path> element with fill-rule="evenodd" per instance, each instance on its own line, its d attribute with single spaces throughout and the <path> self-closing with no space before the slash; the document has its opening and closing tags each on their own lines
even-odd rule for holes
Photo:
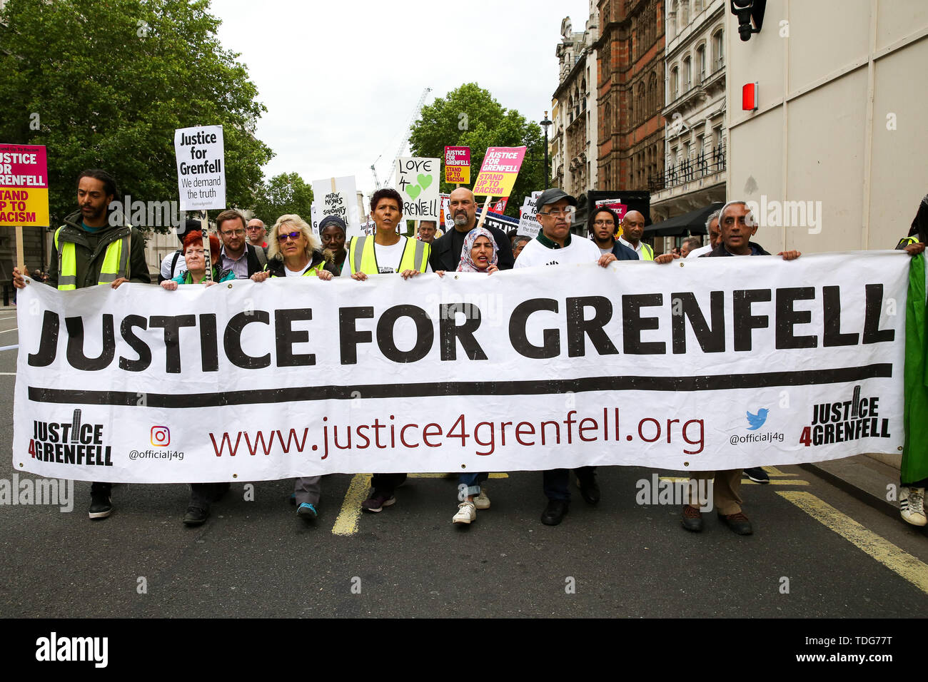
<svg viewBox="0 0 928 682">
<path fill-rule="evenodd" d="M 110 445 L 103 440 L 103 424 L 84 424 L 81 410 L 71 421 L 32 421 L 29 455 L 43 462 L 111 467 Z"/>
</svg>

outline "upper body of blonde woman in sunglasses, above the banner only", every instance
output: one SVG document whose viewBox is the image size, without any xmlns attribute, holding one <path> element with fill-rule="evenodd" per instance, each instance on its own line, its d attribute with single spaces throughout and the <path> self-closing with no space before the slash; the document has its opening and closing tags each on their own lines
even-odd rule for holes
<svg viewBox="0 0 928 682">
<path fill-rule="evenodd" d="M 251 276 L 255 282 L 267 277 L 319 277 L 331 279 L 335 267 L 322 256 L 322 247 L 310 226 L 296 213 L 277 218 L 267 235 L 267 264 Z"/>
</svg>

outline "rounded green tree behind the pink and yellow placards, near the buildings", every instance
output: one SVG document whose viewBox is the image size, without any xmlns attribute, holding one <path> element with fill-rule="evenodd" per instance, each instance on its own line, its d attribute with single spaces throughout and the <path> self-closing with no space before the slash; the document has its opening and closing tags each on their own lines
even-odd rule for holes
<svg viewBox="0 0 928 682">
<path fill-rule="evenodd" d="M 470 147 L 470 187 L 477 180 L 488 147 L 527 148 L 506 206 L 507 215 L 518 217 L 522 199 L 544 188 L 545 141 L 541 126 L 526 121 L 516 109 L 505 109 L 476 83 L 463 84 L 423 107 L 419 120 L 410 128 L 409 148 L 414 156 L 438 157 L 444 164 L 446 146 Z M 443 192 L 454 188 L 443 179 Z"/>
</svg>

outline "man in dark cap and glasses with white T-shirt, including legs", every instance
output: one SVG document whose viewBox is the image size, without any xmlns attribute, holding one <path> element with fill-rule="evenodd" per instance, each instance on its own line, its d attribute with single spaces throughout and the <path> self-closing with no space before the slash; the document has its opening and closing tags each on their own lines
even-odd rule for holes
<svg viewBox="0 0 928 682">
<path fill-rule="evenodd" d="M 538 236 L 525 245 L 515 267 L 533 265 L 561 265 L 575 263 L 599 263 L 606 267 L 618 260 L 615 254 L 600 254 L 599 248 L 589 239 L 572 238 L 571 224 L 574 221 L 577 200 L 561 189 L 546 189 L 535 200 L 538 207 L 537 219 L 541 225 Z M 587 504 L 599 502 L 599 485 L 596 483 L 596 467 L 580 467 L 574 470 L 580 495 Z M 567 514 L 571 493 L 568 489 L 570 471 L 553 469 L 543 474 L 545 496 L 548 507 L 541 515 L 541 522 L 556 526 Z"/>
</svg>

